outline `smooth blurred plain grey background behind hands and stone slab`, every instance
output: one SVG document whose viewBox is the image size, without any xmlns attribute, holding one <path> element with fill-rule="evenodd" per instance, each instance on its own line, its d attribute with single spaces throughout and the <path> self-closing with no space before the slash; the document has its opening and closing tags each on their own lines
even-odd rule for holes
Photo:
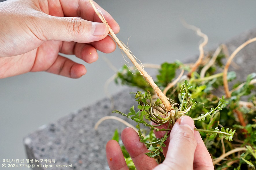
<svg viewBox="0 0 256 170">
<path fill-rule="evenodd" d="M 118 22 L 118 38 L 124 43 L 129 38 L 131 51 L 142 63 L 185 61 L 199 54 L 201 38 L 184 28 L 181 18 L 208 35 L 209 50 L 256 27 L 253 0 L 95 1 Z M 0 160 L 25 159 L 23 137 L 28 133 L 105 98 L 103 86 L 115 72 L 104 57 L 118 69 L 125 64 L 119 49 L 111 54 L 99 52 L 92 64 L 68 57 L 86 66 L 85 76 L 69 79 L 35 72 L 0 79 Z M 108 90 L 114 94 L 121 88 L 112 82 Z"/>
</svg>

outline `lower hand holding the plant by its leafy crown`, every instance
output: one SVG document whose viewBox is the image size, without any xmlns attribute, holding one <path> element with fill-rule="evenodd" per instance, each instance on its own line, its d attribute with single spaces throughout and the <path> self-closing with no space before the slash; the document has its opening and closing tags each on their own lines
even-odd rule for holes
<svg viewBox="0 0 256 170">
<path fill-rule="evenodd" d="M 161 137 L 162 134 L 157 132 L 155 135 Z M 182 116 L 172 127 L 169 140 L 163 148 L 165 160 L 160 165 L 157 165 L 154 158 L 144 154 L 149 150 L 140 142 L 134 129 L 124 129 L 121 138 L 138 170 L 214 169 L 211 156 L 199 132 L 194 131 L 194 121 L 189 116 Z M 107 143 L 106 155 L 110 170 L 128 170 L 120 146 L 115 140 Z"/>
</svg>

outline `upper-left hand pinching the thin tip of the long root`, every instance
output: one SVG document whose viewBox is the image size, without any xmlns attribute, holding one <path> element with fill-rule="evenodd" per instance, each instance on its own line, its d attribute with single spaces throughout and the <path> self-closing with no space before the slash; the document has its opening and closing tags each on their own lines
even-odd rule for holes
<svg viewBox="0 0 256 170">
<path fill-rule="evenodd" d="M 118 33 L 116 21 L 94 4 Z M 8 0 L 0 3 L 0 16 L 0 78 L 30 71 L 79 78 L 85 66 L 59 52 L 92 63 L 98 59 L 97 50 L 116 49 L 88 0 Z"/>
</svg>

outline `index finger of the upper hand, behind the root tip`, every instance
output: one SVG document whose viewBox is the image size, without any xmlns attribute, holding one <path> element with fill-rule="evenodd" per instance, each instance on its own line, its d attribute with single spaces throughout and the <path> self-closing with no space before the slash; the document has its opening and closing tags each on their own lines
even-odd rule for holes
<svg viewBox="0 0 256 170">
<path fill-rule="evenodd" d="M 92 8 L 92 5 L 88 0 L 73 0 L 73 1 L 66 1 L 66 0 L 60 0 L 62 10 L 65 16 L 70 17 L 81 17 L 84 20 L 93 21 L 93 22 L 101 22 L 97 14 L 94 12 L 94 9 Z M 94 5 L 98 9 L 100 13 L 103 14 L 105 20 L 109 24 L 109 26 L 112 28 L 114 33 L 118 33 L 120 28 L 117 22 L 112 18 L 112 16 L 105 11 L 103 8 L 101 8 L 96 2 L 94 2 Z"/>
</svg>

